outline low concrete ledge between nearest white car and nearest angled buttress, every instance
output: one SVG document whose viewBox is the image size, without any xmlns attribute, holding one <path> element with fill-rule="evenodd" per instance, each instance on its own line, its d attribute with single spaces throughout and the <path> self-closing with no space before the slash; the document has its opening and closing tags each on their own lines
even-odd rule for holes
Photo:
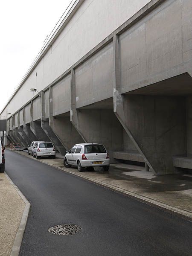
<svg viewBox="0 0 192 256">
<path fill-rule="evenodd" d="M 135 161 L 135 162 L 141 162 L 145 163 L 145 160 L 143 157 L 137 152 L 137 151 L 114 151 L 113 152 L 113 157 L 116 159 L 121 159 L 121 160 L 129 160 L 129 161 Z"/>
</svg>

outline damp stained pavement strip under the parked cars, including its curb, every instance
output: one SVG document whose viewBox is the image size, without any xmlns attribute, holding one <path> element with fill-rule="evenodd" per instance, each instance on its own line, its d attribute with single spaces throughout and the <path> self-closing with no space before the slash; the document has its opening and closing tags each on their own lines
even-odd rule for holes
<svg viewBox="0 0 192 256">
<path fill-rule="evenodd" d="M 36 160 L 26 152 L 16 153 Z M 145 172 L 144 167 L 127 164 L 112 164 L 109 172 L 102 172 L 102 168 L 95 168 L 94 172 L 78 172 L 76 168 L 65 168 L 60 155 L 56 159 L 44 158 L 38 161 L 147 204 L 175 212 L 188 219 L 192 218 L 192 175 L 154 176 L 152 172 Z"/>
</svg>

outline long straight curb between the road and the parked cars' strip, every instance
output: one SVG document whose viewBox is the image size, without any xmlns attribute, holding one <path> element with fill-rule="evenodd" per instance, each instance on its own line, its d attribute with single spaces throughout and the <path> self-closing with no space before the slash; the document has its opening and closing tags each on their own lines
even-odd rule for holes
<svg viewBox="0 0 192 256">
<path fill-rule="evenodd" d="M 16 152 L 16 153 L 20 154 L 19 152 Z M 28 155 L 23 155 L 23 154 L 20 154 L 20 155 L 28 157 L 28 158 L 33 159 L 33 160 L 36 160 L 36 158 L 33 158 L 33 157 L 31 158 Z M 94 180 L 94 179 L 91 179 L 89 177 L 81 176 L 80 173 L 70 172 L 70 170 L 68 170 L 68 169 L 61 168 L 61 167 L 55 166 L 55 165 L 50 164 L 50 163 L 45 163 L 44 161 L 41 161 L 41 160 L 36 160 L 36 161 L 39 161 L 39 162 L 44 163 L 44 164 L 47 164 L 47 165 L 52 166 L 52 167 L 54 167 L 54 168 L 56 168 L 58 170 L 61 170 L 63 172 L 67 172 L 67 173 L 69 173 L 71 175 L 80 177 L 83 180 L 88 180 L 88 181 L 90 181 L 90 182 L 92 182 L 92 183 L 94 183 L 94 184 L 96 184 L 98 186 L 102 186 L 102 187 L 105 187 L 107 189 L 111 189 L 111 190 L 113 190 L 113 191 L 115 191 L 117 193 L 120 193 L 122 195 L 128 196 L 130 198 L 133 198 L 133 199 L 135 199 L 137 201 L 140 201 L 140 202 L 142 202 L 144 204 L 148 204 L 148 205 L 150 205 L 152 207 L 159 208 L 159 209 L 161 209 L 161 210 L 163 210 L 165 212 L 169 212 L 170 214 L 177 215 L 178 217 L 184 218 L 187 221 L 192 221 L 192 213 L 191 212 L 187 212 L 185 210 L 173 207 L 173 206 L 171 206 L 169 204 L 164 204 L 164 203 L 162 203 L 160 201 L 157 201 L 157 200 L 154 200 L 154 199 L 151 199 L 151 198 L 139 195 L 139 194 L 137 194 L 135 192 L 131 192 L 129 190 L 121 189 L 121 188 L 119 188 L 117 186 L 105 183 L 105 182 L 100 181 L 100 180 Z"/>
</svg>

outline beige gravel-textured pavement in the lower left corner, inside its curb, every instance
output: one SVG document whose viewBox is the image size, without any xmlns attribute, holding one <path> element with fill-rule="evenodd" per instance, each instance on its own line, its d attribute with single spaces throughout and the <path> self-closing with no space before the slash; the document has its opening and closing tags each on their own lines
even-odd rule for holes
<svg viewBox="0 0 192 256">
<path fill-rule="evenodd" d="M 13 184 L 0 173 L 0 256 L 10 256 L 24 208 Z"/>
</svg>

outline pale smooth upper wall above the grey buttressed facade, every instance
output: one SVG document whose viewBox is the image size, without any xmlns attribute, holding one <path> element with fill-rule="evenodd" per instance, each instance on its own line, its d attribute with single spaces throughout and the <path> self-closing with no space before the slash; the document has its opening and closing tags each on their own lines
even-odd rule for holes
<svg viewBox="0 0 192 256">
<path fill-rule="evenodd" d="M 81 4 L 66 20 L 58 38 L 51 44 L 2 115 L 6 115 L 7 109 L 14 113 L 22 107 L 35 96 L 35 93 L 29 91 L 30 88 L 43 90 L 148 2 L 149 0 L 81 0 Z"/>
</svg>

